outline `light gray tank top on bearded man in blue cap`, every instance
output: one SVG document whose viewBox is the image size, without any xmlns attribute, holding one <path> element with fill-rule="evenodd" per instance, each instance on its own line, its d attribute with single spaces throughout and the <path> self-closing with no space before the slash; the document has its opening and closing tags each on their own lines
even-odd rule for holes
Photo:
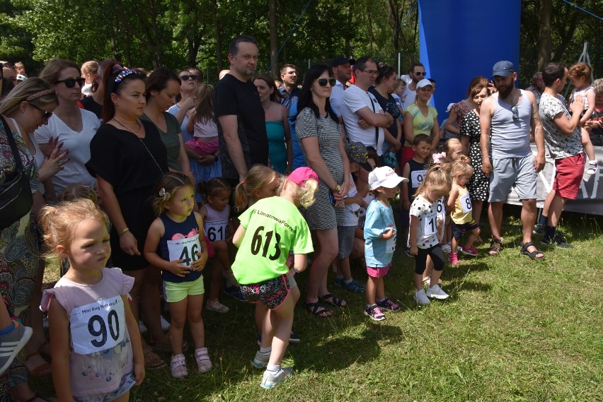
<svg viewBox="0 0 603 402">
<path fill-rule="evenodd" d="M 532 153 L 529 147 L 530 117 L 532 117 L 532 102 L 524 90 L 517 104 L 519 120 L 513 120 L 512 105 L 501 101 L 498 93 L 495 97 L 496 106 L 492 116 L 492 158 L 524 158 Z"/>
</svg>

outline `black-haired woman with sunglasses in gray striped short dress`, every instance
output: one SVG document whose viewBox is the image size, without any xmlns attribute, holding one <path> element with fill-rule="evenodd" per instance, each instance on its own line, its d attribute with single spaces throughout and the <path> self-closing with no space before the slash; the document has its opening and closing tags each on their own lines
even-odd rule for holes
<svg viewBox="0 0 603 402">
<path fill-rule="evenodd" d="M 339 251 L 337 225 L 343 222 L 343 199 L 350 189 L 350 164 L 345 153 L 339 119 L 329 97 L 335 85 L 333 72 L 327 66 L 312 66 L 299 93 L 295 129 L 302 146 L 306 165 L 318 178 L 316 202 L 306 209 L 306 221 L 316 236 L 314 261 L 310 267 L 306 310 L 316 317 L 329 317 L 331 312 L 322 302 L 345 307 L 345 300 L 333 296 L 327 288 L 327 271 Z"/>
</svg>

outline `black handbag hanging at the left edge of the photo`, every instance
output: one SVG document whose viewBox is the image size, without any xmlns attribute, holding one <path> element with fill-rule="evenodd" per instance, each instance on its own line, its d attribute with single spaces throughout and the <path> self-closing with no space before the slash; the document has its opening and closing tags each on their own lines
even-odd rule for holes
<svg viewBox="0 0 603 402">
<path fill-rule="evenodd" d="M 0 121 L 4 125 L 6 138 L 8 138 L 15 159 L 13 175 L 8 177 L 6 182 L 0 184 L 0 229 L 4 229 L 31 211 L 33 197 L 11 128 L 2 116 L 0 116 Z"/>
</svg>

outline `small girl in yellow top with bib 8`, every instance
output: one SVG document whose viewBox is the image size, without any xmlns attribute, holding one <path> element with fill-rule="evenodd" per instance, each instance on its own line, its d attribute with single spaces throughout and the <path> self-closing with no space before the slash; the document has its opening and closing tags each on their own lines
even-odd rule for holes
<svg viewBox="0 0 603 402">
<path fill-rule="evenodd" d="M 468 256 L 479 254 L 477 249 L 473 247 L 473 242 L 478 238 L 480 228 L 473 219 L 471 194 L 469 194 L 466 187 L 471 175 L 473 175 L 473 167 L 469 165 L 469 158 L 461 155 L 452 164 L 452 190 L 447 202 L 448 208 L 452 211 L 452 251 L 448 255 L 448 261 L 453 265 L 459 264 L 456 249 L 464 232 L 470 232 L 470 234 L 465 245 L 461 247 L 461 253 Z"/>
</svg>

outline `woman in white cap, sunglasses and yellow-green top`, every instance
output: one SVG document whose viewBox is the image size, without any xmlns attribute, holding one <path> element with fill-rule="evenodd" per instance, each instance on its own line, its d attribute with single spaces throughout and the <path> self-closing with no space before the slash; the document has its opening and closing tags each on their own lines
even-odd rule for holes
<svg viewBox="0 0 603 402">
<path fill-rule="evenodd" d="M 415 157 L 413 138 L 419 134 L 431 137 L 431 149 L 435 150 L 440 142 L 440 126 L 437 124 L 437 110 L 427 105 L 433 94 L 433 84 L 423 78 L 417 83 L 415 102 L 404 111 L 404 149 L 402 150 L 401 169 L 406 162 Z"/>
</svg>

